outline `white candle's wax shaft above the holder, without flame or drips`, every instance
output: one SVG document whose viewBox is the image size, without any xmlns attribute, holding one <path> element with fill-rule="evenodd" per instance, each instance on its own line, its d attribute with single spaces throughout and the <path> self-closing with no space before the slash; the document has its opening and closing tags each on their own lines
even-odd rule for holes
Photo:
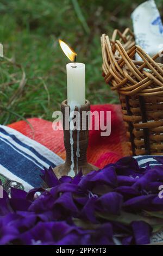
<svg viewBox="0 0 163 256">
<path fill-rule="evenodd" d="M 68 63 L 67 70 L 67 104 L 76 106 L 85 104 L 85 64 Z"/>
</svg>

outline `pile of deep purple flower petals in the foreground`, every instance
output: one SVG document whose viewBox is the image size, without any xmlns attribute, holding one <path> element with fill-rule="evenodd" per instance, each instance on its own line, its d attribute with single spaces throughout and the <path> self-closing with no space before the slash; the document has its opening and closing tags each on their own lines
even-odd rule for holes
<svg viewBox="0 0 163 256">
<path fill-rule="evenodd" d="M 124 157 L 86 176 L 58 180 L 50 167 L 41 177 L 48 188 L 4 191 L 0 245 L 143 245 L 163 229 L 163 164 Z"/>
</svg>

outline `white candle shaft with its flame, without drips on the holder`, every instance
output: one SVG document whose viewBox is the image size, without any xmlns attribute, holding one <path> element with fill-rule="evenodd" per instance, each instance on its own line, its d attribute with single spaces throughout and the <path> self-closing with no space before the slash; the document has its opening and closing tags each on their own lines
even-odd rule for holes
<svg viewBox="0 0 163 256">
<path fill-rule="evenodd" d="M 67 70 L 67 105 L 76 106 L 85 104 L 85 64 L 76 63 L 77 53 L 74 52 L 64 41 L 59 44 L 72 63 L 66 65 Z"/>
</svg>

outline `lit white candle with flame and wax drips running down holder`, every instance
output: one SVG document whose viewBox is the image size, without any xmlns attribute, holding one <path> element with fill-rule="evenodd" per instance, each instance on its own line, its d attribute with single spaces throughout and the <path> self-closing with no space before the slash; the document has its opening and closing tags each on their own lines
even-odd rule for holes
<svg viewBox="0 0 163 256">
<path fill-rule="evenodd" d="M 70 106 L 70 144 L 71 144 L 71 168 L 68 175 L 74 176 L 74 154 L 73 154 L 73 127 L 71 127 L 71 122 L 73 117 L 71 113 L 74 112 L 75 107 L 78 107 L 85 104 L 85 64 L 76 63 L 77 53 L 74 52 L 64 41 L 59 40 L 59 44 L 66 54 L 66 56 L 73 63 L 68 63 L 66 65 L 67 70 L 67 105 Z M 77 131 L 77 151 L 76 151 L 76 166 L 78 172 L 78 158 L 80 157 L 80 148 L 79 148 L 79 132 Z"/>
</svg>

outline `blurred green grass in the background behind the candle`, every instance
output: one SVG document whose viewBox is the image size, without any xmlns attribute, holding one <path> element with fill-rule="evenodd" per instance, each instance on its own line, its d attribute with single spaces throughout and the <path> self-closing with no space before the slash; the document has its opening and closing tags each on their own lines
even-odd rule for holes
<svg viewBox="0 0 163 256">
<path fill-rule="evenodd" d="M 131 0 L 2 0 L 0 123 L 29 117 L 52 120 L 66 99 L 66 63 L 58 39 L 86 64 L 86 97 L 93 104 L 117 103 L 102 77 L 100 36 L 131 27 Z M 162 1 L 156 1 L 158 5 Z"/>
</svg>

